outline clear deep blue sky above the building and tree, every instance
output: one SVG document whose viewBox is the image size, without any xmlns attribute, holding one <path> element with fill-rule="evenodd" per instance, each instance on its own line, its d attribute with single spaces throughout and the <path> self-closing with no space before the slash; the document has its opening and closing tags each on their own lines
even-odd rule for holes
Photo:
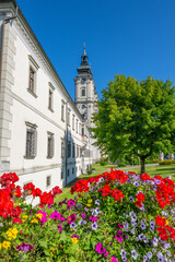
<svg viewBox="0 0 175 262">
<path fill-rule="evenodd" d="M 74 99 L 83 43 L 98 96 L 115 74 L 175 84 L 174 0 L 16 0 Z"/>
</svg>

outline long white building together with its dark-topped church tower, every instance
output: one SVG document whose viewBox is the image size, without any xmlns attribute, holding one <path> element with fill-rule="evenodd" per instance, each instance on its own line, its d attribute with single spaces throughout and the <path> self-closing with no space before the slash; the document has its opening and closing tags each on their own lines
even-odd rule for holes
<svg viewBox="0 0 175 262">
<path fill-rule="evenodd" d="M 15 0 L 0 0 L 0 175 L 63 187 L 100 158 L 90 128 L 98 99 L 85 47 L 75 102 Z"/>
</svg>

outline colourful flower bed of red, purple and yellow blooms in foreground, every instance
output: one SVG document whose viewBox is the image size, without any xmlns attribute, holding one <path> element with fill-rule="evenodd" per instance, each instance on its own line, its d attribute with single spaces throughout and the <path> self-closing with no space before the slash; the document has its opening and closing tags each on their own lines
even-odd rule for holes
<svg viewBox="0 0 175 262">
<path fill-rule="evenodd" d="M 110 170 L 62 191 L 0 177 L 0 261 L 175 261 L 175 182 Z M 39 198 L 37 207 L 25 198 Z M 74 198 L 73 198 L 74 195 Z"/>
</svg>

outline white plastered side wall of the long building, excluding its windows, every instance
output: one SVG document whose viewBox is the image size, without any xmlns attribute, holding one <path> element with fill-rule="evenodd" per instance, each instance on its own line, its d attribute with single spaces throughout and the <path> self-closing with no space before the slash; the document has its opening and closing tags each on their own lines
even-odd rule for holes
<svg viewBox="0 0 175 262">
<path fill-rule="evenodd" d="M 1 31 L 2 27 L 0 27 Z M 49 190 L 58 184 L 66 183 L 66 157 L 61 157 L 61 141 L 70 141 L 80 148 L 84 145 L 84 136 L 81 134 L 80 124 L 82 118 L 68 92 L 62 85 L 59 76 L 55 74 L 48 66 L 49 62 L 43 58 L 43 50 L 38 49 L 35 40 L 21 20 L 13 21 L 4 25 L 5 40 L 2 43 L 2 70 L 0 100 L 2 104 L 0 128 L 5 130 L 0 136 L 0 174 L 4 171 L 15 171 L 20 176 L 20 186 L 32 181 L 42 190 Z M 8 48 L 5 48 L 8 46 Z M 9 62 L 9 72 L 3 73 Z M 28 92 L 30 67 L 34 66 L 35 94 Z M 52 110 L 48 109 L 49 88 L 52 88 L 54 105 Z M 4 94 L 8 93 L 10 105 L 7 106 Z M 61 105 L 65 106 L 65 121 L 61 120 Z M 7 107 L 7 110 L 4 109 Z M 70 126 L 68 127 L 67 110 L 70 110 Z M 9 115 L 8 115 L 9 114 Z M 74 130 L 72 128 L 72 116 L 74 115 Z M 8 117 L 7 117 L 8 116 Z M 75 122 L 78 121 L 78 130 Z M 26 123 L 36 126 L 37 153 L 32 159 L 25 157 L 26 152 Z M 54 157 L 47 157 L 48 132 L 54 134 Z M 4 133 L 4 135 L 3 135 Z M 86 135 L 90 135 L 86 131 Z M 7 142 L 7 143 L 5 143 Z M 86 148 L 93 151 L 89 143 Z M 5 150 L 3 148 L 5 145 Z M 5 155 L 4 155 L 5 153 Z M 69 170 L 68 181 L 79 176 L 93 162 L 93 154 L 89 156 L 79 155 L 67 158 L 67 170 Z M 5 163 L 5 164 L 4 164 Z M 63 172 L 63 179 L 61 174 Z M 50 186 L 46 187 L 47 177 L 51 176 Z"/>
</svg>

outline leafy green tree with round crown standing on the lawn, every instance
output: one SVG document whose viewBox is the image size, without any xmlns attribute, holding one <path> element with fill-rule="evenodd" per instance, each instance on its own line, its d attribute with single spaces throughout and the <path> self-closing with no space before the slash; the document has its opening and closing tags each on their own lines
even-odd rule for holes
<svg viewBox="0 0 175 262">
<path fill-rule="evenodd" d="M 121 155 L 140 157 L 141 172 L 145 158 L 161 151 L 173 152 L 175 134 L 175 87 L 148 76 L 116 75 L 102 92 L 93 128 L 96 145 L 112 160 Z"/>
</svg>

